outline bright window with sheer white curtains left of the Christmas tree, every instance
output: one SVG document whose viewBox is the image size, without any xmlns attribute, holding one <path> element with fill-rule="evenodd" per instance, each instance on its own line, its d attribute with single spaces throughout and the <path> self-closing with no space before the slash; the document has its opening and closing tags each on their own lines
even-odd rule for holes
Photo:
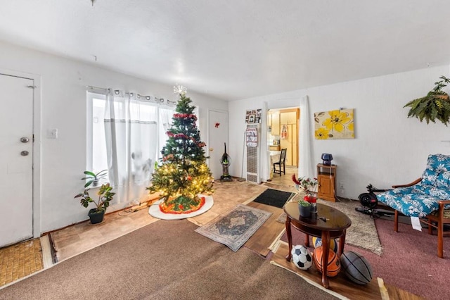
<svg viewBox="0 0 450 300">
<path fill-rule="evenodd" d="M 117 191 L 127 191 L 117 194 L 116 199 L 131 201 L 141 197 L 149 184 L 155 161 L 161 158 L 175 107 L 147 99 L 147 96 L 113 92 L 117 92 L 113 117 L 107 102 L 112 98 L 87 92 L 86 170 L 109 170 L 105 181 Z M 137 191 L 138 186 L 139 192 L 132 192 Z"/>
</svg>

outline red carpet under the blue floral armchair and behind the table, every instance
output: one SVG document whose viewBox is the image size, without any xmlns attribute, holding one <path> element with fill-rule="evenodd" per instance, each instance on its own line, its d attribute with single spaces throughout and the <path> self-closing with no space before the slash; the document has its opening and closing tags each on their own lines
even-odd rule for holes
<svg viewBox="0 0 450 300">
<path fill-rule="evenodd" d="M 369 217 L 368 217 L 369 218 Z M 450 299 L 450 238 L 444 237 L 444 258 L 437 257 L 437 237 L 413 230 L 411 225 L 399 224 L 394 232 L 390 220 L 375 220 L 383 255 L 345 245 L 345 251 L 356 251 L 367 258 L 374 277 L 400 289 L 427 299 Z M 282 240 L 287 242 L 285 235 Z M 293 244 L 304 244 L 304 235 L 293 230 Z"/>
</svg>

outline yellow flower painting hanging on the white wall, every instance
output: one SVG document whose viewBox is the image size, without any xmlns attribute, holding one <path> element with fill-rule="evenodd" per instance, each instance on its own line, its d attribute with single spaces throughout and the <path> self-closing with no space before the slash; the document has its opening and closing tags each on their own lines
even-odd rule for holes
<svg viewBox="0 0 450 300">
<path fill-rule="evenodd" d="M 353 109 L 314 113 L 316 139 L 354 139 Z"/>
</svg>

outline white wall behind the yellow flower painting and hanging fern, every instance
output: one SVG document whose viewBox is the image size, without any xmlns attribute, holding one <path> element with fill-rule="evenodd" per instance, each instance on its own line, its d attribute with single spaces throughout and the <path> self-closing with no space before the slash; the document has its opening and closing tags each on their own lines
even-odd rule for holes
<svg viewBox="0 0 450 300">
<path fill-rule="evenodd" d="M 389 188 L 412 182 L 425 170 L 428 154 L 450 154 L 450 142 L 441 142 L 450 140 L 448 127 L 439 121 L 427 125 L 406 118 L 409 109 L 403 108 L 425 96 L 441 75 L 449 76 L 448 65 L 232 101 L 230 132 L 237 133 L 230 136 L 230 156 L 242 161 L 246 109 L 262 108 L 264 101 L 269 108 L 299 106 L 300 98 L 308 95 L 311 114 L 354 108 L 355 139 L 313 142 L 314 165 L 321 163 L 322 153 L 333 154 L 333 163 L 338 165 L 338 196 L 357 199 L 368 183 Z M 240 177 L 240 165 L 231 165 L 230 172 Z M 340 182 L 345 189 L 339 189 Z"/>
</svg>

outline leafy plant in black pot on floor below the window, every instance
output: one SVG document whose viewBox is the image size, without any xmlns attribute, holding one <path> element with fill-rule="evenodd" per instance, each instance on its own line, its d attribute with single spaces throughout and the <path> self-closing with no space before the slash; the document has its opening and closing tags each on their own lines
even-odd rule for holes
<svg viewBox="0 0 450 300">
<path fill-rule="evenodd" d="M 94 205 L 96 206 L 95 208 L 91 208 L 88 213 L 89 219 L 91 220 L 92 224 L 101 223 L 103 221 L 103 217 L 105 216 L 106 208 L 108 208 L 108 206 L 110 206 L 110 201 L 113 200 L 113 196 L 115 195 L 115 193 L 111 192 L 113 187 L 111 187 L 109 183 L 104 183 L 98 189 L 98 192 L 97 192 L 98 199 L 97 200 L 94 200 L 89 195 L 89 186 L 94 183 L 94 180 L 96 180 L 96 179 L 98 180 L 98 176 L 102 172 L 103 171 L 101 171 L 99 173 L 93 173 L 90 171 L 84 171 L 85 175 L 88 175 L 91 177 L 84 177 L 82 180 L 86 180 L 89 178 L 91 178 L 92 180 L 88 180 L 88 182 L 86 182 L 86 184 L 84 185 L 84 191 L 75 196 L 75 198 L 81 197 L 79 202 L 82 204 L 82 206 L 84 206 L 86 208 L 91 203 L 94 203 Z M 103 176 L 105 176 L 105 175 L 103 175 Z"/>
</svg>

